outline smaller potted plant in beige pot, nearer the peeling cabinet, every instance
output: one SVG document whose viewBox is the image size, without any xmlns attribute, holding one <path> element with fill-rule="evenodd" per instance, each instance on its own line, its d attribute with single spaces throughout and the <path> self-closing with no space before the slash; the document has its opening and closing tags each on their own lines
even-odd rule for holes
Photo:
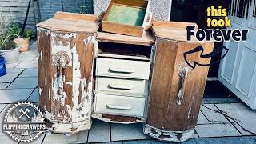
<svg viewBox="0 0 256 144">
<path fill-rule="evenodd" d="M 19 35 L 21 24 L 18 22 L 10 22 L 8 25 L 8 33 L 9 34 L 17 34 Z M 33 36 L 32 30 L 25 30 L 22 37 L 18 37 L 14 39 L 14 42 L 19 47 L 19 51 L 25 52 L 30 49 L 30 38 Z"/>
</svg>

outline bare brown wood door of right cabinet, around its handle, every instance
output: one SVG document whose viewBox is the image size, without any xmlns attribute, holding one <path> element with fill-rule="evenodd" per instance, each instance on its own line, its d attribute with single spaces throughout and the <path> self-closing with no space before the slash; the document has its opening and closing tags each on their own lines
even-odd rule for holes
<svg viewBox="0 0 256 144">
<path fill-rule="evenodd" d="M 168 131 L 184 131 L 196 126 L 208 67 L 197 66 L 192 70 L 187 78 L 185 95 L 180 106 L 177 104 L 180 88 L 178 67 L 185 62 L 183 53 L 199 45 L 208 54 L 213 50 L 214 43 L 176 42 L 158 38 L 146 122 L 150 126 Z M 190 56 L 189 61 L 210 62 L 210 58 L 200 58 L 199 55 Z"/>
</svg>

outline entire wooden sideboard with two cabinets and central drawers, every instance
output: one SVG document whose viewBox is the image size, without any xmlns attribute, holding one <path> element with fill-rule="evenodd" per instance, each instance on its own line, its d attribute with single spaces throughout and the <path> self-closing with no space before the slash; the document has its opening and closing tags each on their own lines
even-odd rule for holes
<svg viewBox="0 0 256 144">
<path fill-rule="evenodd" d="M 102 17 L 102 16 L 101 16 Z M 186 41 L 186 22 L 154 22 L 143 37 L 99 32 L 93 15 L 57 13 L 38 24 L 39 106 L 47 128 L 73 134 L 105 122 L 145 122 L 162 141 L 193 138 L 208 67 L 184 52 L 214 42 Z M 193 62 L 210 62 L 192 54 Z"/>
</svg>

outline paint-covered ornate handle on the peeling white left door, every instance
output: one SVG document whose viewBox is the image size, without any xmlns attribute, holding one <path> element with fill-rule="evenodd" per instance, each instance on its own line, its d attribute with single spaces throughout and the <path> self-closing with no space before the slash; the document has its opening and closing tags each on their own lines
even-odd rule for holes
<svg viewBox="0 0 256 144">
<path fill-rule="evenodd" d="M 59 51 L 54 54 L 54 64 L 58 66 L 59 70 L 59 82 L 58 82 L 58 94 L 63 94 L 63 68 L 70 63 L 70 57 L 65 51 Z"/>
</svg>

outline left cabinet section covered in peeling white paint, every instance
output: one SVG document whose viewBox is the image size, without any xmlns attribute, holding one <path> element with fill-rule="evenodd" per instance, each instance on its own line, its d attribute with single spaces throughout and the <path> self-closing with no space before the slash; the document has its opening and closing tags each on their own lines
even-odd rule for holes
<svg viewBox="0 0 256 144">
<path fill-rule="evenodd" d="M 54 133 L 90 129 L 98 24 L 94 16 L 57 13 L 37 25 L 39 106 Z"/>
</svg>

